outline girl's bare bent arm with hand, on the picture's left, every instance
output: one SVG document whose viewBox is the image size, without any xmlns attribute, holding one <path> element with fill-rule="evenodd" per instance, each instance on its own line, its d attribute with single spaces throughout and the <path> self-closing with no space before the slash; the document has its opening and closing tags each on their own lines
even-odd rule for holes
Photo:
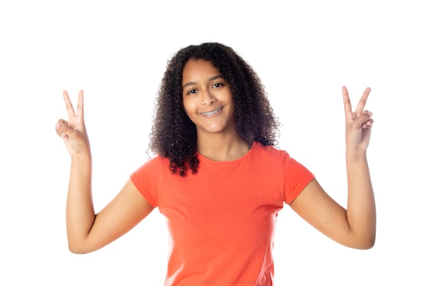
<svg viewBox="0 0 429 286">
<path fill-rule="evenodd" d="M 66 202 L 69 249 L 75 253 L 92 252 L 121 237 L 153 208 L 128 180 L 117 197 L 95 215 L 91 191 L 92 158 L 84 123 L 84 92 L 79 92 L 77 112 L 66 91 L 63 97 L 69 120 L 58 120 L 56 132 L 71 156 Z"/>
</svg>

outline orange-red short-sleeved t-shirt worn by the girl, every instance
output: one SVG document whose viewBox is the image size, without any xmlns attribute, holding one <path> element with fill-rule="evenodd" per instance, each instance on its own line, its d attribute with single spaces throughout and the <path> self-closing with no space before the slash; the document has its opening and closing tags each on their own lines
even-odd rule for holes
<svg viewBox="0 0 429 286">
<path fill-rule="evenodd" d="M 130 176 L 167 218 L 164 285 L 273 285 L 278 211 L 314 176 L 287 152 L 256 142 L 238 160 L 198 158 L 195 175 L 171 174 L 168 158 L 156 156 Z"/>
</svg>

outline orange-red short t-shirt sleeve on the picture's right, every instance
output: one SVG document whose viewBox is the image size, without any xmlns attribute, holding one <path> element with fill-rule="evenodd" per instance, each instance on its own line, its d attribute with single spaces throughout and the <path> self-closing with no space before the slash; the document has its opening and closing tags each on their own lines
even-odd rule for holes
<svg viewBox="0 0 429 286">
<path fill-rule="evenodd" d="M 291 158 L 287 153 L 284 171 L 284 202 L 289 204 L 297 198 L 299 193 L 304 190 L 307 184 L 313 180 L 315 176 L 306 167 L 304 167 L 304 165 Z"/>
</svg>

